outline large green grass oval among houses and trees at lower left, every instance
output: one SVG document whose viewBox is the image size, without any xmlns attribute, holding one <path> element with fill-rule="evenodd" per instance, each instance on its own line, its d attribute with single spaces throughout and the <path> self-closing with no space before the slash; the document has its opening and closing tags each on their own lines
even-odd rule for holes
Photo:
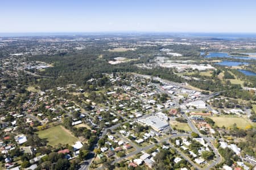
<svg viewBox="0 0 256 170">
<path fill-rule="evenodd" d="M 72 145 L 74 142 L 78 141 L 78 139 L 72 135 L 71 131 L 61 125 L 39 131 L 38 136 L 41 139 L 47 139 L 48 144 L 51 146 L 58 145 L 59 143 Z"/>
</svg>

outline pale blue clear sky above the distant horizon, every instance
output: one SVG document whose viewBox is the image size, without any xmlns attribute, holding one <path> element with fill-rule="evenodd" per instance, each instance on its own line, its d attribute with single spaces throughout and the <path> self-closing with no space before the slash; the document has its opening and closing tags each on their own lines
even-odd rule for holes
<svg viewBox="0 0 256 170">
<path fill-rule="evenodd" d="M 256 32 L 255 0 L 1 0 L 0 32 Z"/>
</svg>

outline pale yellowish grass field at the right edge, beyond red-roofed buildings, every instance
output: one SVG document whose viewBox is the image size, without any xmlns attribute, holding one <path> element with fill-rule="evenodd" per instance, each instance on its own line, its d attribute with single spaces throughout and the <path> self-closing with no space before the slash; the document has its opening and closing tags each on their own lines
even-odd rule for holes
<svg viewBox="0 0 256 170">
<path fill-rule="evenodd" d="M 255 123 L 250 122 L 246 118 L 242 117 L 210 117 L 219 127 L 225 126 L 226 128 L 232 127 L 234 124 L 237 124 L 238 128 L 245 129 L 246 126 L 256 126 Z"/>
</svg>

